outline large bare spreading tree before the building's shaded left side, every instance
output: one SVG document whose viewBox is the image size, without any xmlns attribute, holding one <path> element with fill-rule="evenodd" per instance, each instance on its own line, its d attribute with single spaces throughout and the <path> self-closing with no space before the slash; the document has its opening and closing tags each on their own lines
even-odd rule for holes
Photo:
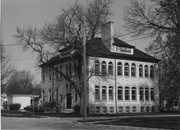
<svg viewBox="0 0 180 130">
<path fill-rule="evenodd" d="M 56 69 L 53 65 L 48 64 L 47 67 L 51 68 L 56 73 L 60 73 L 70 82 L 81 97 L 83 94 L 83 18 L 86 19 L 86 33 L 92 39 L 99 33 L 100 25 L 107 22 L 109 16 L 112 14 L 110 11 L 111 3 L 110 0 L 93 0 L 89 1 L 86 6 L 82 6 L 76 2 L 68 9 L 62 9 L 62 14 L 56 17 L 55 22 L 46 23 L 40 30 L 31 27 L 25 29 L 17 27 L 15 37 L 19 43 L 24 45 L 24 50 L 31 49 L 32 52 L 37 53 L 38 63 L 45 64 L 48 60 L 57 56 L 60 49 L 66 48 L 71 54 L 75 73 L 78 75 L 78 83 L 73 81 L 68 75 Z"/>
</svg>

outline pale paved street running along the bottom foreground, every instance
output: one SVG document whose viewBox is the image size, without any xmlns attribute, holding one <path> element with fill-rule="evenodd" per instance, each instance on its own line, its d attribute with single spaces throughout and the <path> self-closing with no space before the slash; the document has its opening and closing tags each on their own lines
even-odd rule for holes
<svg viewBox="0 0 180 130">
<path fill-rule="evenodd" d="M 15 118 L 1 117 L 1 128 L 18 130 L 155 130 L 143 127 L 113 126 L 93 123 L 79 123 L 82 118 Z"/>
</svg>

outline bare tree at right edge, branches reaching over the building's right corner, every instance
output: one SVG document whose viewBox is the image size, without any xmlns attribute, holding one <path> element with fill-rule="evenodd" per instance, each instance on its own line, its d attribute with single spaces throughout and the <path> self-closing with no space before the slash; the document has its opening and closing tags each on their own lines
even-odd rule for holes
<svg viewBox="0 0 180 130">
<path fill-rule="evenodd" d="M 162 95 L 167 95 L 169 88 L 175 88 L 173 94 L 179 102 L 180 1 L 151 0 L 149 5 L 146 2 L 131 1 L 131 6 L 125 9 L 125 27 L 133 37 L 155 38 L 146 51 L 162 60 L 159 73 L 165 84 Z"/>
</svg>

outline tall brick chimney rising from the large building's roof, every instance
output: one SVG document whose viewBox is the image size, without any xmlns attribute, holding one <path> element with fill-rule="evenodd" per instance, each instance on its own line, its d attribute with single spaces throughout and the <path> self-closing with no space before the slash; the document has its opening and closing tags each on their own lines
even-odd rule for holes
<svg viewBox="0 0 180 130">
<path fill-rule="evenodd" d="M 114 22 L 110 21 L 101 26 L 102 43 L 112 52 L 116 52 L 114 43 Z"/>
</svg>

